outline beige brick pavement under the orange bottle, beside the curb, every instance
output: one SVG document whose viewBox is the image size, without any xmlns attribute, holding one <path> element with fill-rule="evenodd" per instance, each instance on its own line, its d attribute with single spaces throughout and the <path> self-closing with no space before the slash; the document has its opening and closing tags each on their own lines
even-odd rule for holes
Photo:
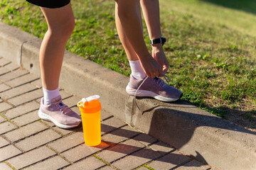
<svg viewBox="0 0 256 170">
<path fill-rule="evenodd" d="M 79 113 L 80 97 L 60 91 Z M 39 77 L 0 57 L 0 169 L 211 169 L 136 130 L 102 108 L 102 143 L 88 147 L 82 126 L 63 130 L 37 115 Z"/>
</svg>

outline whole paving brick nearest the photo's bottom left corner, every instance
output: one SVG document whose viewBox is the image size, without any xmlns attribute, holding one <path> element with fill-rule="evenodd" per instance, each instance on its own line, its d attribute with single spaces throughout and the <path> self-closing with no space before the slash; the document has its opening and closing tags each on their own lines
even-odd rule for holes
<svg viewBox="0 0 256 170">
<path fill-rule="evenodd" d="M 33 149 L 31 152 L 26 152 L 21 154 L 18 157 L 9 159 L 9 163 L 14 166 L 16 169 L 22 169 L 26 166 L 40 162 L 43 159 L 53 156 L 56 154 L 48 147 L 40 147 L 38 149 Z"/>
</svg>

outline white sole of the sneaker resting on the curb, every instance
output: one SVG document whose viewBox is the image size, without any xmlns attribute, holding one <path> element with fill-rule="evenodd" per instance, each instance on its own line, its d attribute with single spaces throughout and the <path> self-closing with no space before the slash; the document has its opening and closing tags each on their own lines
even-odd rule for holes
<svg viewBox="0 0 256 170">
<path fill-rule="evenodd" d="M 134 94 L 136 93 L 136 89 L 132 89 L 129 85 L 127 85 L 126 91 L 127 91 L 127 94 L 129 94 L 131 96 L 134 96 Z M 145 90 L 138 90 L 136 96 L 152 97 L 152 98 L 156 98 L 156 100 L 166 101 L 166 102 L 178 101 L 178 99 L 179 99 L 179 98 L 166 98 L 164 96 L 160 96 L 159 94 L 155 94 L 152 91 L 145 91 Z"/>
</svg>

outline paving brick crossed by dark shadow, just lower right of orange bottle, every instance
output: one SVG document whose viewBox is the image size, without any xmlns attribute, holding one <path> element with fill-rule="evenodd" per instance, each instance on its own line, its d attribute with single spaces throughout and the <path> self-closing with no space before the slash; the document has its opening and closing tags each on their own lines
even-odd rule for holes
<svg viewBox="0 0 256 170">
<path fill-rule="evenodd" d="M 114 147 L 105 149 L 104 151 L 98 153 L 97 156 L 106 162 L 114 162 L 115 160 L 120 159 L 127 154 L 131 154 L 132 152 L 135 152 L 139 149 L 142 149 L 143 147 L 144 145 L 135 140 L 127 140 Z"/>
</svg>

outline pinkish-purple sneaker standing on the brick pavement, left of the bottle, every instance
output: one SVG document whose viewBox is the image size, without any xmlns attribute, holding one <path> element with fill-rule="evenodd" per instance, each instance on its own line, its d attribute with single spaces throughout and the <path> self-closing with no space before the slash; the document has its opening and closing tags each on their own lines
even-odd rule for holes
<svg viewBox="0 0 256 170">
<path fill-rule="evenodd" d="M 38 115 L 63 129 L 75 128 L 81 123 L 80 116 L 62 102 L 61 96 L 53 98 L 50 105 L 44 105 L 42 98 Z"/>
</svg>

